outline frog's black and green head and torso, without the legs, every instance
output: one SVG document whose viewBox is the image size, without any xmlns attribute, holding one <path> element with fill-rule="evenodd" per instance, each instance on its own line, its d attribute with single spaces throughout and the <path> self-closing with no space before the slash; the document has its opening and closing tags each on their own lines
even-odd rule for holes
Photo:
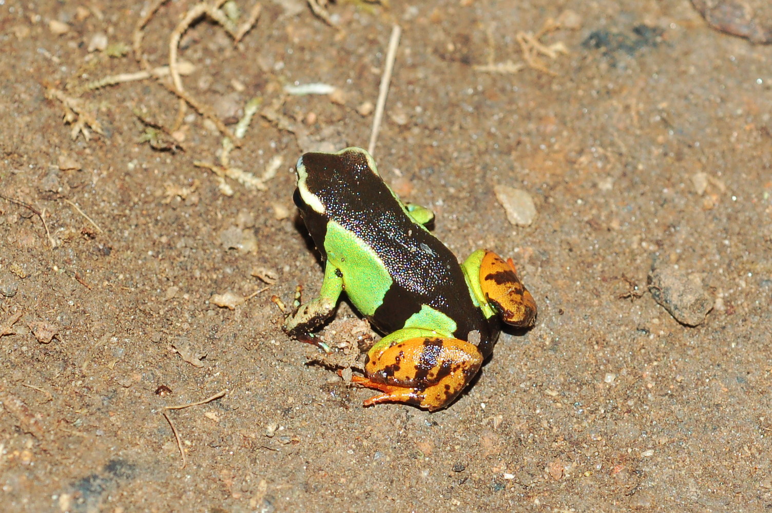
<svg viewBox="0 0 772 513">
<path fill-rule="evenodd" d="M 408 216 L 366 154 L 306 154 L 303 165 L 306 187 L 325 207 L 323 219 L 306 209 L 304 220 L 317 244 L 324 241 L 357 310 L 386 333 L 422 327 L 424 319 L 436 325 L 445 316 L 455 323 L 449 335 L 466 339 L 478 330 L 489 341 L 488 322 L 472 304 L 455 255 Z"/>
</svg>

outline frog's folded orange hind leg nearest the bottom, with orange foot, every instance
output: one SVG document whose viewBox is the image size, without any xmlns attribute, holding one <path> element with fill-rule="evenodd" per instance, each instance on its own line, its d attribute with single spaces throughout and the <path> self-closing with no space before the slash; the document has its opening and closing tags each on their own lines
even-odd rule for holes
<svg viewBox="0 0 772 513">
<path fill-rule="evenodd" d="M 366 377 L 352 381 L 383 392 L 364 406 L 395 402 L 434 411 L 452 403 L 481 364 L 482 354 L 469 342 L 405 328 L 378 341 L 367 353 Z"/>
</svg>

